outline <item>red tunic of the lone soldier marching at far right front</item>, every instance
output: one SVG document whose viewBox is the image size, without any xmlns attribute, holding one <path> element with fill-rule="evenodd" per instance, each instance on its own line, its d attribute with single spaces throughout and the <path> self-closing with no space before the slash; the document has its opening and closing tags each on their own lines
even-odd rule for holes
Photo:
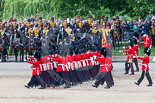
<svg viewBox="0 0 155 103">
<path fill-rule="evenodd" d="M 149 70 L 149 62 L 150 62 L 149 56 L 147 56 L 147 57 L 138 57 L 137 59 L 143 60 L 143 62 L 142 62 L 142 71 Z"/>
</svg>

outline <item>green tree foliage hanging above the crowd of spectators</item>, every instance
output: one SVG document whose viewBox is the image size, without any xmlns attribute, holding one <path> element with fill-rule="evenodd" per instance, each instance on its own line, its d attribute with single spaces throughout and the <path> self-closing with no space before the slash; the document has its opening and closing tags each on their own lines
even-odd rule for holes
<svg viewBox="0 0 155 103">
<path fill-rule="evenodd" d="M 154 0 L 0 0 L 3 18 L 28 17 L 30 14 L 49 18 L 87 17 L 92 15 L 146 16 L 154 11 Z"/>
</svg>

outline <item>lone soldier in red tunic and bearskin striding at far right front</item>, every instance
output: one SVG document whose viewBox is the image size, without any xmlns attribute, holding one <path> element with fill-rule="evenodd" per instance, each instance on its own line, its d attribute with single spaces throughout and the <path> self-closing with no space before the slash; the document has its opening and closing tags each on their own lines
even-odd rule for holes
<svg viewBox="0 0 155 103">
<path fill-rule="evenodd" d="M 146 78 L 149 81 L 149 84 L 147 86 L 152 86 L 152 84 L 153 84 L 152 79 L 149 74 L 149 62 L 150 62 L 149 56 L 150 56 L 150 54 L 151 54 L 151 49 L 149 47 L 146 47 L 144 49 L 144 57 L 137 56 L 137 59 L 143 60 L 141 77 L 139 78 L 139 80 L 137 82 L 135 82 L 135 84 L 138 86 L 143 81 L 144 75 L 146 75 Z"/>
</svg>

